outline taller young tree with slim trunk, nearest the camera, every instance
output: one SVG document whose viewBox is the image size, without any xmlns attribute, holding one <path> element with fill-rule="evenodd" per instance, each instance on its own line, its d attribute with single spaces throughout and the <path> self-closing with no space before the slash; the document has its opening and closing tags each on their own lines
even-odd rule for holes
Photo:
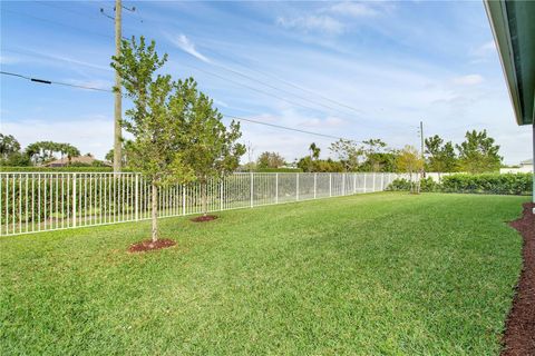
<svg viewBox="0 0 535 356">
<path fill-rule="evenodd" d="M 156 73 L 167 60 L 159 57 L 156 43 L 121 41 L 120 56 L 113 57 L 111 67 L 120 78 L 133 107 L 126 110 L 121 126 L 134 136 L 132 166 L 152 186 L 152 240 L 158 239 L 158 187 L 193 179 L 192 168 L 184 160 L 186 116 L 194 106 L 195 91 L 191 81 L 173 81 L 171 76 Z M 118 88 L 115 88 L 118 90 Z"/>
</svg>

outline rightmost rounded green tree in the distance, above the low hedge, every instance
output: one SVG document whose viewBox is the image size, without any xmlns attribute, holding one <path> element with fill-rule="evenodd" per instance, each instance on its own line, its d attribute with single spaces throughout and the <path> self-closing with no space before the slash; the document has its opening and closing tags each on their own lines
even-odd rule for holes
<svg viewBox="0 0 535 356">
<path fill-rule="evenodd" d="M 487 136 L 487 130 L 467 131 L 465 141 L 456 147 L 459 151 L 459 166 L 464 171 L 470 174 L 496 171 L 502 166 L 499 146 L 494 145 L 494 138 Z"/>
</svg>

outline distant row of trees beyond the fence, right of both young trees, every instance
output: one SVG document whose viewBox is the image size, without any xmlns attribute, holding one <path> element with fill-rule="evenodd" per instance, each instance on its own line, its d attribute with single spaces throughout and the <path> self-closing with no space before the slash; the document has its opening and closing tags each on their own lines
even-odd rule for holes
<svg viewBox="0 0 535 356">
<path fill-rule="evenodd" d="M 309 155 L 288 164 L 279 152 L 262 152 L 256 162 L 247 164 L 244 170 L 275 169 L 294 166 L 307 172 L 376 171 L 409 172 L 421 169 L 435 172 L 470 174 L 494 172 L 502 167 L 499 146 L 486 130 L 467 131 L 460 145 L 445 141 L 438 135 L 425 139 L 425 151 L 412 146 L 390 148 L 381 139 L 362 142 L 339 139 L 329 146 L 330 158 L 320 159 L 321 149 L 315 142 L 309 146 Z"/>
</svg>

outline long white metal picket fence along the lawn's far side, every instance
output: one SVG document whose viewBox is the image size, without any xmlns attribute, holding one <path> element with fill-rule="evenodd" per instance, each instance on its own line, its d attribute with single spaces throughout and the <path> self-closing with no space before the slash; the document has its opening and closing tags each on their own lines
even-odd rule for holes
<svg viewBox="0 0 535 356">
<path fill-rule="evenodd" d="M 207 210 L 382 191 L 397 174 L 234 174 L 206 185 Z M 158 216 L 202 212 L 200 184 L 158 190 Z M 0 236 L 150 218 L 139 174 L 0 172 Z"/>
</svg>

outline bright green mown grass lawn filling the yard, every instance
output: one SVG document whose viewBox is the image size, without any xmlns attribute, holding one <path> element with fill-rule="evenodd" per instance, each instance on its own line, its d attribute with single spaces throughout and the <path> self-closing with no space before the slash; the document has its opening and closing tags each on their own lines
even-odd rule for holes
<svg viewBox="0 0 535 356">
<path fill-rule="evenodd" d="M 1 355 L 497 355 L 527 197 L 373 194 L 0 239 Z"/>
</svg>

